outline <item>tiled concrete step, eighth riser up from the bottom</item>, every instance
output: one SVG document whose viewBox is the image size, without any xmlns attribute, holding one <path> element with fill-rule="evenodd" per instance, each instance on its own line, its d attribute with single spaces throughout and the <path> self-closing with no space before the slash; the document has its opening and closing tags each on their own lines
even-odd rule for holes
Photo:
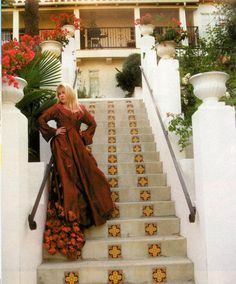
<svg viewBox="0 0 236 284">
<path fill-rule="evenodd" d="M 114 153 L 109 154 L 95 152 L 95 159 L 99 164 L 110 163 L 141 163 L 141 162 L 156 162 L 159 161 L 159 153 L 158 152 L 140 152 L 140 153 Z"/>
</svg>

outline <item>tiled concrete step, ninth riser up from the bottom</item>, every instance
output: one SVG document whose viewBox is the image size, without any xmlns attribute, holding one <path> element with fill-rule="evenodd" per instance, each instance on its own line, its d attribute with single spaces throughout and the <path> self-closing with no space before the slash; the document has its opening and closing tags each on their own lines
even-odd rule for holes
<svg viewBox="0 0 236 284">
<path fill-rule="evenodd" d="M 116 144 L 93 144 L 90 146 L 92 152 L 108 152 L 108 153 L 123 153 L 123 152 L 155 152 L 156 144 L 154 142 L 143 143 L 116 143 Z"/>
</svg>

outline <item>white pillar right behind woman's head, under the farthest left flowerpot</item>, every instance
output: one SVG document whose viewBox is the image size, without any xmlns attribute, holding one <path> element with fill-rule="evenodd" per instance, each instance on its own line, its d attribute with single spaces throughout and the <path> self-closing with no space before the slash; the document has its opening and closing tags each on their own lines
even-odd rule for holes
<svg viewBox="0 0 236 284">
<path fill-rule="evenodd" d="M 75 39 L 70 38 L 61 56 L 62 81 L 73 86 L 76 71 Z"/>
</svg>

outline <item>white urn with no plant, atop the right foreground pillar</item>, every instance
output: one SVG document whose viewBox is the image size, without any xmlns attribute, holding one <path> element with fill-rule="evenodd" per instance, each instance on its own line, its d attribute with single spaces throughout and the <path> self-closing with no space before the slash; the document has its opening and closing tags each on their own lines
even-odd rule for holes
<svg viewBox="0 0 236 284">
<path fill-rule="evenodd" d="M 192 76 L 189 82 L 194 87 L 194 94 L 203 102 L 215 101 L 225 95 L 226 81 L 229 75 L 225 72 L 211 71 Z"/>
</svg>

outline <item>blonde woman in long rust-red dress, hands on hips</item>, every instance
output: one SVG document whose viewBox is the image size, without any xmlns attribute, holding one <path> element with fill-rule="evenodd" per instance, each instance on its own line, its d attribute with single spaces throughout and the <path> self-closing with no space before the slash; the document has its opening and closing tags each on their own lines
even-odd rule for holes
<svg viewBox="0 0 236 284">
<path fill-rule="evenodd" d="M 57 87 L 58 103 L 39 118 L 40 132 L 51 139 L 54 158 L 51 190 L 44 233 L 44 247 L 70 259 L 80 256 L 85 243 L 83 230 L 106 222 L 114 209 L 109 183 L 87 150 L 96 122 L 79 104 L 68 84 Z M 55 120 L 57 128 L 47 122 Z M 81 131 L 81 124 L 88 127 Z"/>
</svg>

